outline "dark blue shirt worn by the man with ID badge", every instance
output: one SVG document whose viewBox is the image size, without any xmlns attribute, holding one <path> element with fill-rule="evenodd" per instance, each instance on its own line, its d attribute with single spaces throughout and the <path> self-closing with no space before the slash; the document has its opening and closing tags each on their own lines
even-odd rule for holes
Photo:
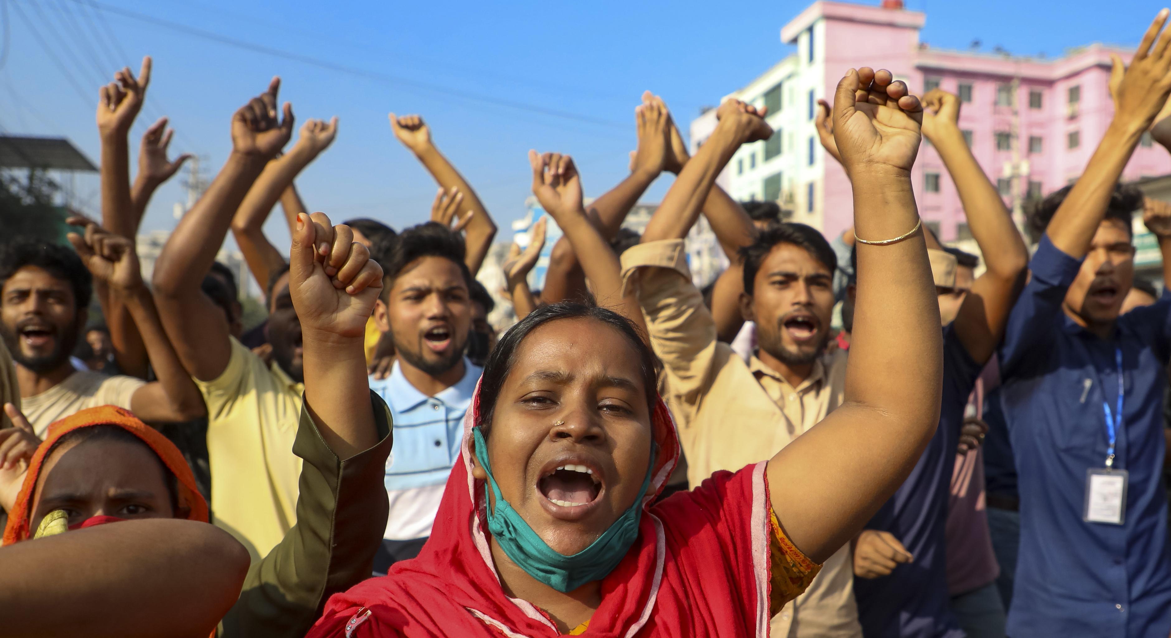
<svg viewBox="0 0 1171 638">
<path fill-rule="evenodd" d="M 1046 236 L 1000 350 L 1001 404 L 1016 458 L 1021 540 L 1011 636 L 1158 637 L 1171 632 L 1163 490 L 1163 391 L 1171 296 L 1121 317 L 1110 339 L 1062 311 L 1081 261 Z M 1104 400 L 1125 404 L 1115 468 L 1130 473 L 1124 524 L 1082 520 L 1086 472 L 1105 466 Z"/>
</svg>

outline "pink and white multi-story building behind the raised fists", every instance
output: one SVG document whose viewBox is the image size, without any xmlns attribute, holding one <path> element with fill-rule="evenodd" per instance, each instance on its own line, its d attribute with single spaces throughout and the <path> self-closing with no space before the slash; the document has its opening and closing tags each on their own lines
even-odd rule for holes
<svg viewBox="0 0 1171 638">
<path fill-rule="evenodd" d="M 1081 174 L 1114 114 L 1107 87 L 1110 54 L 1132 49 L 1088 44 L 1059 59 L 936 49 L 919 41 L 926 21 L 899 0 L 882 7 L 820 0 L 781 28 L 796 53 L 730 94 L 768 107 L 772 139 L 747 144 L 720 184 L 739 199 L 769 199 L 793 221 L 841 233 L 852 222 L 850 184 L 817 143 L 816 101 L 833 101 L 845 69 L 889 69 L 917 95 L 933 87 L 959 95 L 960 129 L 1009 208 L 1053 192 Z M 711 135 L 714 111 L 691 124 L 692 145 Z M 1143 138 L 1123 179 L 1171 173 L 1171 156 Z M 925 222 L 944 240 L 967 235 L 964 211 L 939 155 L 924 143 L 912 174 Z"/>
</svg>

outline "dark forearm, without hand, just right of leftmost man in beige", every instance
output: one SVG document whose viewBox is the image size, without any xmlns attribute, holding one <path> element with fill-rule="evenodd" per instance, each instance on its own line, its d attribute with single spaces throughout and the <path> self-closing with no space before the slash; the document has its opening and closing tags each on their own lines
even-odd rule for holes
<svg viewBox="0 0 1171 638">
<path fill-rule="evenodd" d="M 197 418 L 205 413 L 203 395 L 191 380 L 191 375 L 183 368 L 179 356 L 171 345 L 163 330 L 163 323 L 155 308 L 155 300 L 145 286 L 136 290 L 119 294 L 130 313 L 130 317 L 138 327 L 143 344 L 146 348 L 146 356 L 150 358 L 151 368 L 159 386 L 166 395 L 167 403 L 176 417 Z"/>
</svg>

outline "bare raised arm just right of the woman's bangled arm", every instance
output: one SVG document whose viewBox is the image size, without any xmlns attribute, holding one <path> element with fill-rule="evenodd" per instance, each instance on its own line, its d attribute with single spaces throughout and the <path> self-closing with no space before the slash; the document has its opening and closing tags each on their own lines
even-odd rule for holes
<svg viewBox="0 0 1171 638">
<path fill-rule="evenodd" d="M 959 191 L 987 269 L 972 284 L 956 316 L 956 336 L 978 363 L 992 357 L 1005 332 L 1028 267 L 1028 249 L 1005 201 L 980 169 L 959 129 L 959 97 L 941 89 L 923 96 L 923 135 L 939 151 Z"/>
</svg>

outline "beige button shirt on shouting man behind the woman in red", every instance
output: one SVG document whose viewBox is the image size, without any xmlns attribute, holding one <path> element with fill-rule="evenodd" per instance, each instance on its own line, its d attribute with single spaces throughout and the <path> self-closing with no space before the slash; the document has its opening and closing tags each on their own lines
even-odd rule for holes
<svg viewBox="0 0 1171 638">
<path fill-rule="evenodd" d="M 651 347 L 663 361 L 667 405 L 699 485 L 719 469 L 771 459 L 841 405 L 845 354 L 827 355 L 797 387 L 756 357 L 748 363 L 715 338 L 715 322 L 691 283 L 682 240 L 642 243 L 622 255 L 624 286 L 634 286 Z M 774 637 L 860 638 L 854 561 L 847 544 L 772 622 Z"/>
</svg>

